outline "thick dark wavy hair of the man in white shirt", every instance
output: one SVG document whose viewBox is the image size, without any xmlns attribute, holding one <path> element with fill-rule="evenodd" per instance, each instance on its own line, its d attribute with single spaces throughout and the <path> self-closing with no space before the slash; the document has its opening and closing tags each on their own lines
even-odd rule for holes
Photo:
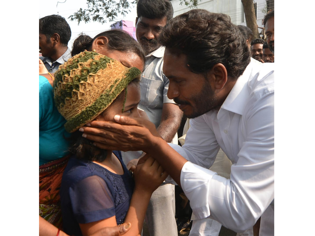
<svg viewBox="0 0 315 236">
<path fill-rule="evenodd" d="M 185 54 L 189 70 L 206 74 L 222 63 L 227 75 L 237 78 L 250 62 L 245 38 L 226 14 L 193 9 L 168 22 L 159 43 L 171 53 Z"/>
</svg>

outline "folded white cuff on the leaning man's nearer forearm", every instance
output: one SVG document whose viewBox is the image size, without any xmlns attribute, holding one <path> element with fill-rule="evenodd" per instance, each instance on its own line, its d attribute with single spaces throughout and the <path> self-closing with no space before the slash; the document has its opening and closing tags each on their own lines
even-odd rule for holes
<svg viewBox="0 0 315 236">
<path fill-rule="evenodd" d="M 210 180 L 217 173 L 186 162 L 180 172 L 180 184 L 190 200 L 192 212 L 197 220 L 210 216 L 209 191 Z"/>
</svg>

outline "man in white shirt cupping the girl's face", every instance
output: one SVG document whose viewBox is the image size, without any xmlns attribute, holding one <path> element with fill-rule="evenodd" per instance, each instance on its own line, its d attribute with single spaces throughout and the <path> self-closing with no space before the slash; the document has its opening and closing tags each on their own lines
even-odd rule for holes
<svg viewBox="0 0 315 236">
<path fill-rule="evenodd" d="M 120 115 L 117 123 L 91 122 L 83 137 L 100 148 L 143 150 L 181 186 L 195 219 L 243 232 L 273 215 L 274 64 L 250 59 L 230 17 L 203 9 L 170 20 L 159 39 L 168 97 L 192 118 L 185 144 L 168 144 L 152 123 Z M 220 148 L 233 163 L 229 179 L 209 170 Z M 273 235 L 270 219 L 261 235 Z"/>
</svg>

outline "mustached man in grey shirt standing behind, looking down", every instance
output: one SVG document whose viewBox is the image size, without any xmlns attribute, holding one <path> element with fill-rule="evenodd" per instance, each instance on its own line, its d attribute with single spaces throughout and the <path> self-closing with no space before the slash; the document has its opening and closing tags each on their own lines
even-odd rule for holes
<svg viewBox="0 0 315 236">
<path fill-rule="evenodd" d="M 163 74 L 164 47 L 157 38 L 173 18 L 173 7 L 168 0 L 139 0 L 137 4 L 136 37 L 146 52 L 146 66 L 140 79 L 141 98 L 138 107 L 146 112 L 167 142 L 178 144 L 177 129 L 182 111 L 167 97 L 169 80 Z M 142 152 L 122 152 L 123 161 L 139 158 Z M 150 235 L 177 236 L 175 221 L 175 186 L 163 183 L 155 190 L 146 212 Z"/>
</svg>

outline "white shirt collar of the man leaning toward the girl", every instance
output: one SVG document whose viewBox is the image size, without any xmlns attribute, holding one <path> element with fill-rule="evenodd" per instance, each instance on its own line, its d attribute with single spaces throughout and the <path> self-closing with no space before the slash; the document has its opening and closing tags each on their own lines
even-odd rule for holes
<svg viewBox="0 0 315 236">
<path fill-rule="evenodd" d="M 234 84 L 231 92 L 227 95 L 221 109 L 232 111 L 234 113 L 243 115 L 243 111 L 246 105 L 246 101 L 249 97 L 248 81 L 251 77 L 253 66 L 255 65 L 255 59 L 250 58 L 250 63 L 247 65 L 243 72 L 243 75 L 239 76 L 236 83 Z M 220 110 L 221 110 L 220 109 Z M 220 113 L 218 112 L 218 116 Z"/>
</svg>

